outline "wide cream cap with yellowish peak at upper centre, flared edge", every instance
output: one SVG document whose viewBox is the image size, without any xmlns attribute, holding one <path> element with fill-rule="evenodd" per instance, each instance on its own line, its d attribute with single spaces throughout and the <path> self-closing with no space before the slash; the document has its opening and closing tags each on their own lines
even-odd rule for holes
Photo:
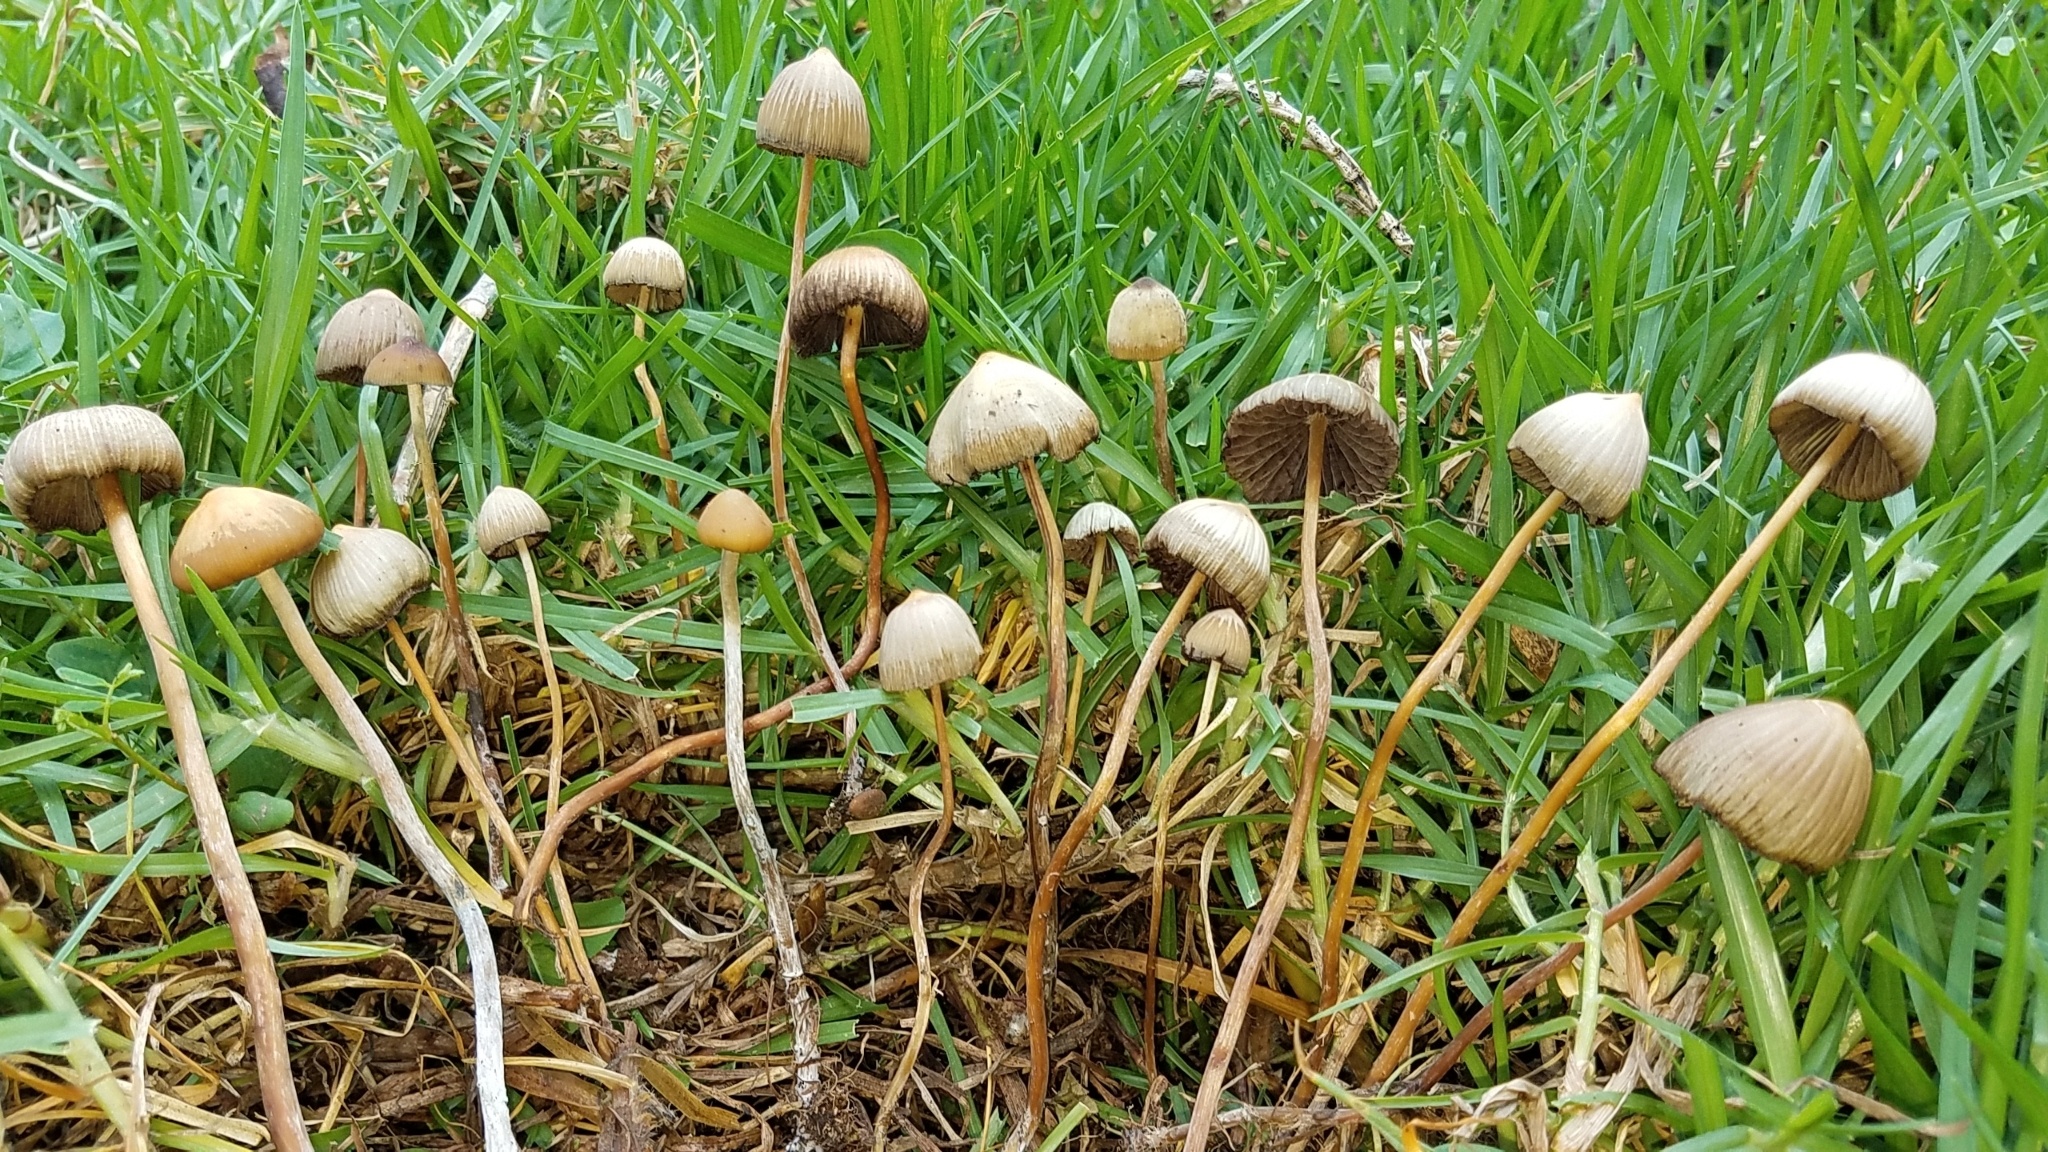
<svg viewBox="0 0 2048 1152">
<path fill-rule="evenodd" d="M 940 484 L 967 484 L 1038 453 L 1073 459 L 1100 430 L 1087 402 L 1053 373 L 1004 353 L 981 353 L 932 422 L 924 474 Z"/>
</svg>

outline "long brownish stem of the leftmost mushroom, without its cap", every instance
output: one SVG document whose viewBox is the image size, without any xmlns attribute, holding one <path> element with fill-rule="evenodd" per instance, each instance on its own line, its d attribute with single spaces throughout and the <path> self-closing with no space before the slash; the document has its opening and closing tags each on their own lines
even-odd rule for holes
<svg viewBox="0 0 2048 1152">
<path fill-rule="evenodd" d="M 213 779 L 207 736 L 199 730 L 199 709 L 193 707 L 193 685 L 184 678 L 184 664 L 176 656 L 178 640 L 170 631 L 164 603 L 156 599 L 156 584 L 150 578 L 141 541 L 135 537 L 135 521 L 129 519 L 121 478 L 100 476 L 92 482 L 92 494 L 100 502 L 106 539 L 113 541 L 115 562 L 121 566 L 121 578 L 135 603 L 135 623 L 150 640 L 150 662 L 164 695 L 164 719 L 170 724 L 170 740 L 178 750 L 178 775 L 184 783 L 184 795 L 193 801 L 199 847 L 207 857 L 207 871 L 213 875 L 213 890 L 221 898 L 221 914 L 227 916 L 227 933 L 236 943 L 242 992 L 250 1002 L 250 1041 L 256 1050 L 256 1078 L 262 1084 L 270 1142 L 287 1152 L 311 1152 L 313 1146 L 305 1138 L 305 1117 L 299 1113 L 297 1076 L 291 1072 L 291 1052 L 285 1045 L 285 996 L 276 986 L 270 939 L 264 935 L 262 912 L 256 908 L 256 892 L 250 888 L 248 871 L 242 869 L 236 832 L 227 822 L 227 804 L 221 801 L 221 785 Z"/>
</svg>

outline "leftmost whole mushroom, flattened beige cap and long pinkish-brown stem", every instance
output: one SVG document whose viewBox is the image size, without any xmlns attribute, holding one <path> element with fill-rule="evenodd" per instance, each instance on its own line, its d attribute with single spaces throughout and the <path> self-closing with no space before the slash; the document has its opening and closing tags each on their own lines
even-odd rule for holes
<svg viewBox="0 0 2048 1152">
<path fill-rule="evenodd" d="M 276 986 L 262 912 L 242 869 L 242 855 L 236 851 L 221 787 L 213 779 L 213 760 L 199 730 L 199 711 L 193 707 L 193 687 L 184 678 L 176 635 L 170 631 L 170 619 L 164 615 L 164 603 L 156 594 L 150 564 L 135 535 L 135 521 L 129 517 L 127 494 L 121 490 L 125 474 L 141 482 L 143 500 L 184 484 L 184 449 L 178 445 L 178 435 L 156 412 L 125 404 L 74 408 L 31 420 L 0 459 L 6 506 L 29 531 L 106 529 L 164 695 L 164 719 L 178 750 L 184 793 L 193 801 L 199 847 L 233 937 L 242 988 L 250 1004 L 250 1033 L 270 1140 L 281 1150 L 311 1152 L 305 1119 L 299 1113 L 291 1052 L 285 1045 L 285 1000 Z"/>
</svg>

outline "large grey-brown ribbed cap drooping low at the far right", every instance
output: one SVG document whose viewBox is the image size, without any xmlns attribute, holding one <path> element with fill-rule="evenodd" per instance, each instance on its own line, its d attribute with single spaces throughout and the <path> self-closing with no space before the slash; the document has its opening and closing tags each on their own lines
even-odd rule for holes
<svg viewBox="0 0 2048 1152">
<path fill-rule="evenodd" d="M 1741 842 L 1806 871 L 1841 861 L 1870 804 L 1870 744 L 1827 699 L 1724 711 L 1673 740 L 1657 773 Z"/>
</svg>

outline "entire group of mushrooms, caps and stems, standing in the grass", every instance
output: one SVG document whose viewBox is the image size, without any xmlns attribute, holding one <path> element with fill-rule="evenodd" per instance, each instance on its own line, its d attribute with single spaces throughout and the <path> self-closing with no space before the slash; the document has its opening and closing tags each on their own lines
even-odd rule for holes
<svg viewBox="0 0 2048 1152">
<path fill-rule="evenodd" d="M 709 752 L 717 746 L 723 746 L 735 812 L 754 855 L 752 875 L 758 877 L 762 890 L 762 906 L 774 945 L 774 974 L 791 1013 L 795 1095 L 801 1105 L 795 1123 L 805 1123 L 803 1117 L 817 1101 L 821 1070 L 817 1000 L 809 990 L 778 851 L 762 826 L 745 771 L 750 734 L 788 717 L 791 701 L 756 701 L 756 711 L 752 715 L 745 711 L 739 646 L 739 558 L 774 547 L 776 523 L 788 521 L 782 414 L 788 365 L 795 355 L 836 351 L 854 439 L 866 459 L 874 496 L 860 635 L 846 652 L 831 650 L 811 601 L 795 539 L 780 533 L 791 562 L 791 578 L 815 631 L 821 664 L 819 681 L 805 693 L 846 687 L 872 664 L 887 693 L 926 697 L 936 728 L 932 752 L 938 760 L 942 806 L 907 886 L 911 945 L 920 976 L 918 1011 L 909 1019 L 907 1052 L 897 1064 L 887 1095 L 877 1101 L 877 1142 L 881 1142 L 887 1119 L 918 1064 L 918 1052 L 930 1027 L 928 1017 L 940 996 L 922 918 L 922 898 L 926 877 L 950 842 L 954 824 L 952 734 L 946 722 L 948 687 L 975 676 L 981 664 L 981 637 L 975 621 L 952 594 L 909 590 L 893 609 L 883 611 L 891 584 L 883 572 L 891 521 L 889 478 L 868 428 L 856 375 L 862 351 L 924 344 L 930 312 L 924 287 L 911 271 L 881 248 L 840 248 L 813 266 L 803 266 L 815 162 L 829 158 L 866 164 L 868 160 L 864 98 L 858 84 L 827 49 L 782 70 L 762 100 L 756 131 L 762 148 L 801 158 L 803 182 L 793 228 L 791 293 L 768 426 L 768 488 L 774 515 L 770 519 L 770 512 L 752 494 L 731 488 L 715 494 L 694 517 L 698 541 L 721 553 L 723 724 L 717 732 L 688 734 L 649 748 L 633 765 L 614 771 L 567 801 L 561 799 L 561 689 L 549 656 L 543 578 L 532 560 L 532 545 L 549 533 L 549 515 L 518 488 L 494 488 L 471 512 L 473 541 L 487 558 L 518 558 L 553 711 L 551 754 L 547 758 L 547 828 L 530 855 L 522 851 L 522 842 L 506 826 L 498 801 L 502 781 L 489 763 L 487 744 L 479 746 L 471 734 L 457 730 L 455 719 L 434 699 L 432 681 L 397 623 L 403 605 L 438 580 L 451 633 L 459 637 L 455 642 L 457 664 L 473 660 L 473 648 L 465 640 L 471 623 L 461 609 L 453 543 L 440 506 L 440 488 L 432 476 L 432 445 L 424 443 L 422 435 L 426 389 L 451 389 L 455 375 L 426 344 L 418 314 L 387 291 L 371 291 L 334 314 L 319 340 L 315 375 L 336 383 L 406 392 L 422 469 L 420 492 L 432 553 L 395 527 L 367 523 L 362 463 L 356 467 L 354 517 L 348 523 L 330 527 L 319 512 L 301 500 L 276 492 L 215 488 L 205 492 L 188 512 L 170 551 L 168 576 L 180 590 L 199 586 L 221 590 L 250 578 L 258 582 L 293 652 L 369 765 L 371 781 L 389 812 L 391 826 L 455 910 L 467 943 L 475 998 L 477 1117 L 492 1152 L 512 1152 L 518 1142 L 504 1086 L 498 949 L 485 914 L 500 912 L 522 922 L 539 922 L 563 945 L 557 955 L 563 957 L 565 974 L 584 982 L 602 1004 L 596 974 L 588 968 L 580 947 L 569 892 L 553 863 L 561 832 L 592 806 L 631 787 L 633 781 L 662 763 L 686 752 Z M 602 289 L 610 301 L 633 312 L 635 338 L 645 338 L 647 316 L 682 307 L 688 275 L 676 248 L 643 236 L 625 242 L 610 256 L 602 273 Z M 1401 428 L 1380 406 L 1374 389 L 1358 381 L 1329 373 L 1286 377 L 1245 396 L 1231 412 L 1223 463 L 1243 502 L 1184 494 L 1176 480 L 1165 365 L 1186 348 L 1186 342 L 1188 316 L 1174 291 L 1157 281 L 1139 279 L 1108 310 L 1108 355 L 1145 365 L 1153 400 L 1155 467 L 1159 484 L 1171 500 L 1143 535 L 1126 510 L 1106 502 L 1083 504 L 1061 525 L 1040 469 L 1079 457 L 1098 437 L 1100 424 L 1090 406 L 1065 381 L 1038 365 L 999 351 L 983 353 L 952 387 L 928 428 L 924 467 L 940 486 L 967 486 L 979 476 L 1016 469 L 1028 494 L 1042 547 L 1042 572 L 1036 574 L 1042 578 L 1042 592 L 1038 592 L 1042 599 L 1036 601 L 1036 621 L 1044 695 L 1036 715 L 1038 756 L 1024 814 L 1024 851 L 1036 877 L 1024 959 L 1030 1078 L 1026 1107 L 1014 1117 L 1016 1127 L 1012 1129 L 1014 1142 L 1020 1146 L 1034 1140 L 1034 1127 L 1040 1123 L 1051 1086 L 1053 1029 L 1047 988 L 1057 968 L 1055 945 L 1063 908 L 1063 877 L 1083 845 L 1106 834 L 1098 828 L 1098 818 L 1124 783 L 1124 760 L 1130 752 L 1139 711 L 1176 640 L 1180 642 L 1180 658 L 1206 674 L 1194 740 L 1200 744 L 1200 734 L 1212 732 L 1221 724 L 1221 715 L 1212 711 L 1221 676 L 1245 676 L 1253 666 L 1251 623 L 1260 619 L 1253 609 L 1262 603 L 1286 605 L 1286 611 L 1292 613 L 1288 635 L 1294 635 L 1292 625 L 1298 625 L 1300 646 L 1309 662 L 1300 711 L 1290 722 L 1294 736 L 1288 750 L 1292 799 L 1278 869 L 1272 873 L 1272 890 L 1262 900 L 1249 941 L 1237 953 L 1239 978 L 1229 986 L 1229 998 L 1194 1101 L 1186 1138 L 1188 1152 L 1200 1152 L 1210 1136 L 1237 1035 L 1257 988 L 1257 974 L 1292 902 L 1292 886 L 1305 867 L 1319 867 L 1317 859 L 1305 861 L 1305 851 L 1325 795 L 1323 746 L 1331 722 L 1331 660 L 1319 556 L 1323 500 L 1339 492 L 1358 502 L 1389 496 L 1401 459 Z M 645 365 L 639 365 L 635 375 L 653 418 L 657 451 L 666 457 L 670 443 L 662 394 Z M 1720 619 L 1735 590 L 1817 490 L 1829 490 L 1847 500 L 1878 500 L 1913 484 L 1931 449 L 1933 404 L 1921 379 L 1905 365 L 1872 353 L 1845 353 L 1817 363 L 1778 394 L 1772 404 L 1769 430 L 1786 467 L 1800 476 L 1798 484 L 1757 529 L 1749 547 L 1692 619 L 1663 648 L 1636 693 L 1620 703 L 1612 719 L 1556 775 L 1542 804 L 1524 820 L 1509 851 L 1470 894 L 1454 924 L 1436 941 L 1440 949 L 1454 947 L 1473 935 L 1493 898 L 1528 855 L 1544 842 L 1577 785 L 1614 740 L 1634 730 L 1645 707 L 1659 697 L 1677 664 Z M 1640 396 L 1634 394 L 1567 396 L 1534 412 L 1513 430 L 1507 445 L 1509 459 L 1516 474 L 1540 494 L 1540 500 L 1501 551 L 1499 562 L 1466 599 L 1438 652 L 1413 676 L 1376 734 L 1370 769 L 1356 789 L 1346 853 L 1329 888 L 1333 910 L 1325 916 L 1321 947 L 1311 949 L 1319 968 L 1323 1017 L 1317 1023 L 1305 1070 L 1327 1076 L 1341 1074 L 1343 1062 L 1366 1031 L 1356 1027 L 1364 1009 L 1333 1011 L 1343 1000 L 1346 990 L 1356 992 L 1364 982 L 1364 953 L 1346 947 L 1343 929 L 1386 771 L 1401 736 L 1415 719 L 1417 705 L 1446 674 L 1489 601 L 1554 517 L 1561 512 L 1579 515 L 1589 525 L 1608 525 L 1626 515 L 1645 480 L 1649 449 Z M 1040 457 L 1051 457 L 1051 463 L 1040 463 Z M 139 488 L 127 488 L 125 478 L 135 478 Z M 279 1148 L 307 1148 L 293 1088 L 295 1078 L 283 1045 L 283 1004 L 264 945 L 262 920 L 236 855 L 227 814 L 199 730 L 193 693 L 158 601 L 156 574 L 150 570 L 150 558 L 137 541 L 129 515 L 131 494 L 152 500 L 182 486 L 182 449 L 170 426 L 141 408 L 98 406 L 53 412 L 14 437 L 4 463 L 0 463 L 0 482 L 6 488 L 8 508 L 27 527 L 74 533 L 96 533 L 104 527 L 113 541 L 137 619 L 150 637 L 182 779 L 223 912 L 233 931 L 256 1023 L 268 1123 Z M 680 515 L 678 486 L 666 480 L 664 488 L 678 519 L 686 519 Z M 1282 580 L 1276 580 L 1272 570 L 1270 521 L 1255 515 L 1247 502 L 1298 506 L 1300 576 L 1294 580 L 1292 594 L 1280 588 Z M 684 547 L 680 529 L 674 531 L 672 545 Z M 1075 730 L 1079 728 L 1079 687 L 1087 676 L 1081 654 L 1067 642 L 1069 549 L 1073 549 L 1075 560 L 1085 560 L 1087 566 L 1085 590 L 1079 594 L 1079 627 L 1094 627 L 1096 599 L 1110 549 L 1122 551 L 1135 570 L 1149 568 L 1163 594 L 1171 596 L 1163 615 L 1149 625 L 1151 640 L 1122 687 L 1122 699 L 1094 781 L 1081 781 L 1069 773 Z M 492 881 L 494 877 L 479 875 L 461 853 L 436 836 L 379 732 L 324 658 L 319 644 L 299 615 L 291 586 L 281 576 L 281 568 L 313 553 L 317 553 L 309 576 L 313 625 L 338 640 L 381 633 L 401 654 L 416 689 L 426 697 L 428 711 L 485 808 L 496 832 L 487 840 L 512 861 L 520 881 L 512 900 L 506 900 L 504 890 Z M 907 574 L 897 582 L 905 584 L 913 578 L 920 576 Z M 1192 625 L 1182 631 L 1190 617 L 1194 617 Z M 1268 637 L 1268 644 L 1274 640 Z M 1290 654 L 1274 652 L 1270 658 L 1290 660 Z M 852 746 L 848 746 L 848 756 L 856 765 L 850 777 L 858 777 L 858 756 Z M 1165 840 L 1174 826 L 1176 789 L 1186 767 L 1186 756 L 1176 758 L 1174 765 L 1163 767 L 1151 787 L 1153 869 L 1147 943 L 1153 949 L 1159 943 Z M 1683 801 L 1708 812 L 1714 822 L 1708 822 L 1692 842 L 1671 845 L 1667 867 L 1628 902 L 1616 906 L 1610 918 L 1626 916 L 1647 904 L 1702 853 L 1710 859 L 1718 855 L 1739 861 L 1739 845 L 1747 845 L 1765 857 L 1808 871 L 1833 867 L 1855 842 L 1872 771 L 1870 750 L 1853 713 L 1825 699 L 1778 699 L 1720 713 L 1665 746 L 1657 769 Z M 852 785 L 858 791 L 858 779 Z M 1063 795 L 1079 795 L 1079 799 L 1071 812 L 1065 812 L 1065 824 L 1055 838 L 1055 812 Z M 1747 875 L 1747 867 L 1718 869 L 1714 875 Z M 543 886 L 551 888 L 553 900 L 541 898 Z M 1567 953 L 1571 949 L 1559 953 L 1563 959 L 1552 957 L 1546 972 L 1569 961 Z M 1135 1039 L 1145 1068 L 1153 1070 L 1157 1066 L 1157 990 L 1153 965 L 1147 965 L 1145 972 L 1143 1035 Z M 1776 980 L 1776 994 L 1784 996 L 1782 974 L 1763 974 L 1761 980 L 1765 984 Z M 1540 980 L 1524 984 L 1509 988 L 1509 994 L 1495 1000 L 1491 1011 L 1501 1011 L 1513 1002 L 1513 996 Z M 1415 1027 L 1425 1017 L 1432 996 L 1434 976 L 1423 976 L 1374 1060 L 1368 1076 L 1372 1086 L 1391 1082 L 1407 1062 Z M 1483 1019 L 1475 1025 L 1483 1025 Z M 1462 1039 L 1468 1041 L 1468 1037 Z M 1456 1045 L 1407 1082 L 1434 1084 L 1452 1066 L 1454 1052 Z M 1772 1058 L 1774 1076 L 1796 1076 L 1796 1060 L 1792 1072 L 1782 1072 L 1776 1066 L 1778 1056 L 1765 1056 Z M 1315 1093 L 1315 1078 L 1305 1074 L 1296 1082 L 1294 1103 L 1309 1103 Z"/>
</svg>

